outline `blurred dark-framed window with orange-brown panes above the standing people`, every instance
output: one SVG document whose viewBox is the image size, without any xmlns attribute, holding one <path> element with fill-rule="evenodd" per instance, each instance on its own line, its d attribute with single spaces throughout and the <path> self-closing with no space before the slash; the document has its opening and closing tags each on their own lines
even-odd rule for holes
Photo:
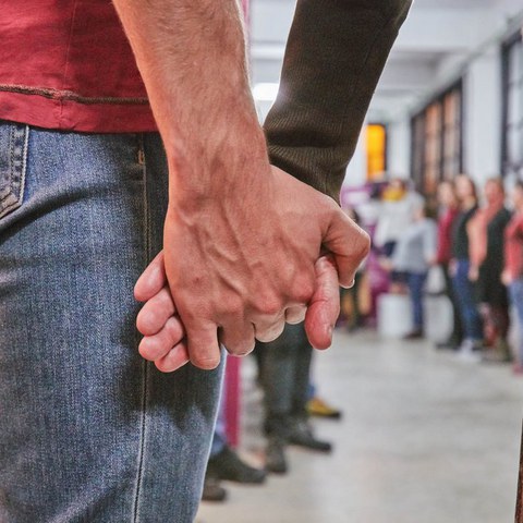
<svg viewBox="0 0 523 523">
<path fill-rule="evenodd" d="M 424 194 L 462 169 L 462 93 L 460 81 L 411 120 L 412 178 Z"/>
</svg>

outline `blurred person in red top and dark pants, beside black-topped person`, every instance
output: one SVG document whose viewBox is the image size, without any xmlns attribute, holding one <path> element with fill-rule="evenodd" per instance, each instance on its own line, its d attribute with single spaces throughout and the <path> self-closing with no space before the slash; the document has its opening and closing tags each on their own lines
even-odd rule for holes
<svg viewBox="0 0 523 523">
<path fill-rule="evenodd" d="M 439 348 L 458 349 L 463 338 L 463 327 L 459 309 L 458 297 L 452 288 L 450 262 L 452 258 L 452 228 L 460 214 L 459 200 L 453 182 L 443 181 L 438 185 L 438 248 L 436 263 L 440 265 L 446 282 L 446 293 L 452 304 L 452 332 L 447 341 L 438 343 Z"/>
</svg>

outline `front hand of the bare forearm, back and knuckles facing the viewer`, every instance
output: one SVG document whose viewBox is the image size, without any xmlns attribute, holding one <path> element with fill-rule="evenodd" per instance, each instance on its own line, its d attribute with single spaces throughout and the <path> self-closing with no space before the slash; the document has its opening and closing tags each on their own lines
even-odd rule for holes
<svg viewBox="0 0 523 523">
<path fill-rule="evenodd" d="M 277 168 L 248 180 L 197 202 L 171 194 L 166 275 L 200 368 L 218 365 L 219 343 L 243 355 L 303 318 L 323 248 L 343 287 L 368 252 L 368 236 L 328 196 Z"/>
</svg>

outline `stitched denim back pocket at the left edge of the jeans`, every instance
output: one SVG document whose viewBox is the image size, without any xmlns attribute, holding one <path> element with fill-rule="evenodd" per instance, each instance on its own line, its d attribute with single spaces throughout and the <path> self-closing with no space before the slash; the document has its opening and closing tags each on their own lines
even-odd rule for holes
<svg viewBox="0 0 523 523">
<path fill-rule="evenodd" d="M 0 121 L 0 218 L 24 198 L 28 125 Z"/>
</svg>

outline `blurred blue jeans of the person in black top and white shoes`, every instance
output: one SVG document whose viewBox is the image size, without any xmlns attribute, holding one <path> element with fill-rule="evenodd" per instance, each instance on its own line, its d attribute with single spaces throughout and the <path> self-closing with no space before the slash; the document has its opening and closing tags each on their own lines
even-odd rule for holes
<svg viewBox="0 0 523 523">
<path fill-rule="evenodd" d="M 474 285 L 469 279 L 471 263 L 467 259 L 457 260 L 457 271 L 452 278 L 452 290 L 460 307 L 464 337 L 470 340 L 483 339 L 482 318 L 477 312 Z"/>
</svg>

